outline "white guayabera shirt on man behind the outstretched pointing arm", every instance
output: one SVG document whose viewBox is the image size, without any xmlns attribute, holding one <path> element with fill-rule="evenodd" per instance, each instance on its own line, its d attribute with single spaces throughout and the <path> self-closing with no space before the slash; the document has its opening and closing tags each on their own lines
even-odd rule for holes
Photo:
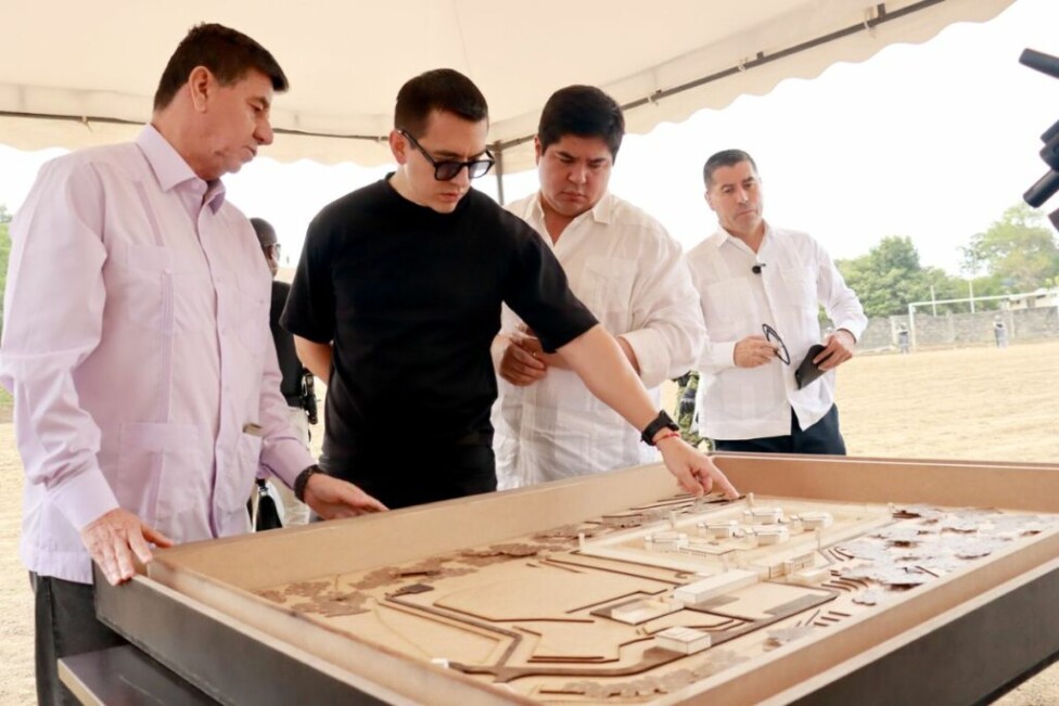
<svg viewBox="0 0 1059 706">
<path fill-rule="evenodd" d="M 539 194 L 507 208 L 552 246 Z M 640 378 L 658 402 L 658 386 L 687 372 L 703 341 L 699 299 L 680 245 L 656 220 L 608 194 L 566 227 L 552 251 L 577 298 L 633 348 Z M 520 325 L 505 307 L 502 329 Z M 500 489 L 658 459 L 639 432 L 572 371 L 549 369 L 526 387 L 503 380 L 498 385 L 493 424 Z"/>
</svg>

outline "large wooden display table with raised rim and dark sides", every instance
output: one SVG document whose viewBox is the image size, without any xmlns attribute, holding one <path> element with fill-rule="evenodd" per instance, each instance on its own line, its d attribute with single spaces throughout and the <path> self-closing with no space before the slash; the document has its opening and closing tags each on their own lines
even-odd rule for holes
<svg viewBox="0 0 1059 706">
<path fill-rule="evenodd" d="M 878 659 L 870 652 L 926 644 L 927 620 L 957 620 L 1034 572 L 1059 576 L 1047 562 L 1059 555 L 1054 468 L 718 463 L 753 492 L 696 501 L 646 466 L 189 544 L 160 552 L 131 593 L 285 654 L 319 676 L 306 694 L 346 684 L 386 702 L 760 703 L 839 683 Z M 1005 489 L 995 504 L 993 480 Z M 178 672 L 209 671 L 188 667 L 189 651 L 217 640 L 130 625 L 114 607 L 133 600 L 123 592 L 101 591 L 104 619 Z M 1059 626 L 1039 643 L 1059 649 Z M 936 679 L 946 666 L 922 667 Z M 203 681 L 222 701 L 248 695 Z"/>
</svg>

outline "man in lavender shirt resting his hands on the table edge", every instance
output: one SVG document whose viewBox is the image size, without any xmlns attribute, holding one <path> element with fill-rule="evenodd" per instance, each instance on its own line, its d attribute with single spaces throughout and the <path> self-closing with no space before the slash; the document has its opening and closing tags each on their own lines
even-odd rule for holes
<svg viewBox="0 0 1059 706">
<path fill-rule="evenodd" d="M 220 177 L 272 141 L 283 70 L 200 25 L 170 57 L 135 143 L 44 165 L 12 223 L 0 383 L 25 465 L 21 555 L 36 594 L 37 689 L 73 703 L 56 658 L 122 639 L 95 619 L 151 547 L 248 529 L 258 464 L 323 517 L 384 510 L 316 473 L 291 429 L 270 277 Z"/>
</svg>

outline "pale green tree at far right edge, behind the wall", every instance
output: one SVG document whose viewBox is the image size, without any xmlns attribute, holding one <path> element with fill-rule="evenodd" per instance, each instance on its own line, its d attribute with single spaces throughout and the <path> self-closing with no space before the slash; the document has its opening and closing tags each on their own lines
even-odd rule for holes
<svg viewBox="0 0 1059 706">
<path fill-rule="evenodd" d="M 984 267 L 995 288 L 1032 292 L 1059 275 L 1059 243 L 1041 211 L 1023 203 L 1005 210 L 961 249 L 965 271 L 973 274 Z"/>
</svg>

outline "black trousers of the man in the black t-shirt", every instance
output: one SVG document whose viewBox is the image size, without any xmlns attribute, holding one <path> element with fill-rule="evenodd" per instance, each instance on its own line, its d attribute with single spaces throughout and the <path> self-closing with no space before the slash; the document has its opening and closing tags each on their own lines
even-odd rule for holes
<svg viewBox="0 0 1059 706">
<path fill-rule="evenodd" d="M 417 454 L 404 451 L 408 449 L 361 452 L 341 463 L 321 458 L 320 467 L 391 510 L 496 490 L 496 457 L 489 446 L 432 446 Z M 416 465 L 409 465 L 412 458 Z"/>
</svg>

